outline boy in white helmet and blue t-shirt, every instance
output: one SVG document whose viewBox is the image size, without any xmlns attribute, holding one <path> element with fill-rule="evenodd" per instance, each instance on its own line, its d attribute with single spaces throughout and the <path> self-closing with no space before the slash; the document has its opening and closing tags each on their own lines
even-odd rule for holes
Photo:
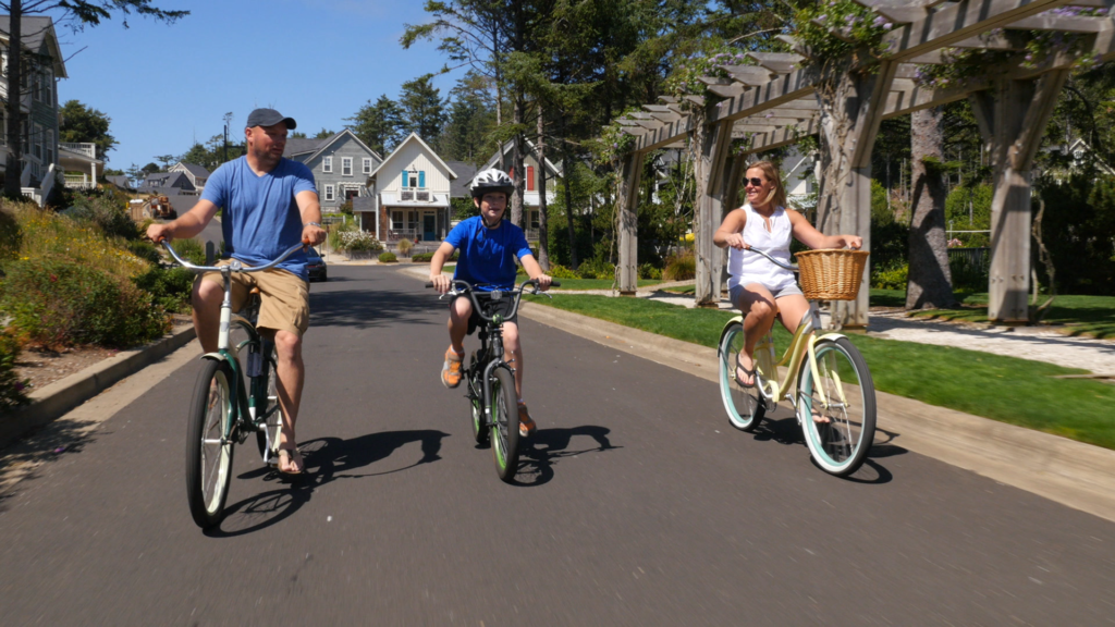
<svg viewBox="0 0 1115 627">
<path fill-rule="evenodd" d="M 454 279 L 468 281 L 476 288 L 476 298 L 482 303 L 491 301 L 493 290 L 511 290 L 515 287 L 517 258 L 531 279 L 539 280 L 539 289 L 550 288 L 550 277 L 531 253 L 523 230 L 503 219 L 507 201 L 514 190 L 511 177 L 500 170 L 485 170 L 473 181 L 473 203 L 481 214 L 462 221 L 434 253 L 429 264 L 429 279 L 438 292 L 449 290 L 448 277 L 442 274 L 445 260 L 456 250 L 460 251 Z M 511 307 L 513 299 L 500 301 L 497 307 Z M 465 336 L 472 335 L 479 326 L 479 317 L 473 311 L 467 298 L 454 298 L 449 303 L 449 348 L 442 365 L 442 383 L 454 388 L 460 385 L 460 363 L 465 357 Z M 518 338 L 518 316 L 503 324 L 503 343 L 507 351 L 506 360 L 515 369 L 515 396 L 518 398 L 518 432 L 529 435 L 535 430 L 526 404 L 523 402 L 523 347 Z"/>
</svg>

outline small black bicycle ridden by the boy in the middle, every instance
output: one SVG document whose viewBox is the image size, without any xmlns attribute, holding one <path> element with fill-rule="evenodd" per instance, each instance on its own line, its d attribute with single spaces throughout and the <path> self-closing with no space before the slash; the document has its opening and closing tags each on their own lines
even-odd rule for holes
<svg viewBox="0 0 1115 627">
<path fill-rule="evenodd" d="M 550 284 L 561 287 L 558 281 Z M 427 282 L 426 287 L 433 288 L 434 283 Z M 518 467 L 518 399 L 515 369 L 503 357 L 503 322 L 518 312 L 527 288 L 532 288 L 529 293 L 545 293 L 539 291 L 537 280 L 531 279 L 508 291 L 485 292 L 487 298 L 481 301 L 468 281 L 454 279 L 449 291 L 439 297 L 467 296 L 473 301 L 473 311 L 483 321 L 477 331 L 481 347 L 469 356 L 462 376 L 466 383 L 465 397 L 473 409 L 473 437 L 481 445 L 491 441 L 495 472 L 503 481 L 511 481 Z M 504 299 L 512 300 L 506 312 L 501 311 Z"/>
</svg>

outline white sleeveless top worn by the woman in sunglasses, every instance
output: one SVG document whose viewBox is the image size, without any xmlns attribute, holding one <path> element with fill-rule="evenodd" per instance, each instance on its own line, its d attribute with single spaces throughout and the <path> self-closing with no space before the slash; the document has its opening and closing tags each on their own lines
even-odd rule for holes
<svg viewBox="0 0 1115 627">
<path fill-rule="evenodd" d="M 770 214 L 770 230 L 766 230 L 766 221 L 762 215 L 745 204 L 747 213 L 744 224 L 744 242 L 753 248 L 767 252 L 770 257 L 789 264 L 789 239 L 793 228 L 786 209 L 779 206 Z M 757 252 L 749 250 L 728 249 L 728 289 L 748 283 L 760 283 L 772 291 L 779 291 L 795 283 L 794 273 L 778 268 Z"/>
</svg>

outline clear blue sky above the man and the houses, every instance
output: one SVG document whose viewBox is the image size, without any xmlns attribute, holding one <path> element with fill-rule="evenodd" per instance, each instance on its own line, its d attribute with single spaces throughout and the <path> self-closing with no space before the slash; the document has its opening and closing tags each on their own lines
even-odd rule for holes
<svg viewBox="0 0 1115 627">
<path fill-rule="evenodd" d="M 72 56 L 59 103 L 78 99 L 112 118 L 119 144 L 107 167 L 181 155 L 195 137 L 220 134 L 227 112 L 242 137 L 258 106 L 293 117 L 310 136 L 340 131 L 368 99 L 398 98 L 403 83 L 446 62 L 435 42 L 399 45 L 404 25 L 429 21 L 417 0 L 154 3 L 191 15 L 173 26 L 134 18 L 124 29 L 117 18 L 76 35 L 58 28 L 62 55 Z M 443 98 L 462 74 L 434 79 Z"/>
</svg>

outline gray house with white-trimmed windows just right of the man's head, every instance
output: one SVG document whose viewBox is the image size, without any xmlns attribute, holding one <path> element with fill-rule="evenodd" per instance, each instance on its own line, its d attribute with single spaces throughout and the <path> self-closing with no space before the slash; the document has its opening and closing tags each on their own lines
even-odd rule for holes
<svg viewBox="0 0 1115 627">
<path fill-rule="evenodd" d="M 384 163 L 379 153 L 347 128 L 323 139 L 287 139 L 283 156 L 304 163 L 313 172 L 324 212 L 338 212 L 345 201 L 366 196 L 371 173 Z"/>
</svg>

